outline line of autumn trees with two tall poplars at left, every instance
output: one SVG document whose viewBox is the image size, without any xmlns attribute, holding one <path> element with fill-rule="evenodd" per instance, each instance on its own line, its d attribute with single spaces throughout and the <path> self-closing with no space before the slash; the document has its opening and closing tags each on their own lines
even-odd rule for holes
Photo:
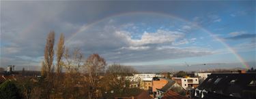
<svg viewBox="0 0 256 99">
<path fill-rule="evenodd" d="M 55 48 L 55 32 L 48 33 L 44 47 L 41 77 L 22 77 L 16 82 L 7 81 L 3 85 L 14 85 L 13 91 L 5 92 L 11 98 L 113 98 L 129 96 L 140 92 L 131 88 L 125 76 L 137 73 L 131 66 L 112 64 L 99 54 L 85 56 L 79 48 L 71 51 L 65 46 L 65 37 L 61 33 Z M 6 89 L 6 88 L 5 88 Z M 1 89 L 0 89 L 1 90 Z M 2 93 L 3 94 L 3 93 Z M 0 94 L 0 98 L 1 98 Z M 5 97 L 3 97 L 5 98 Z"/>
</svg>

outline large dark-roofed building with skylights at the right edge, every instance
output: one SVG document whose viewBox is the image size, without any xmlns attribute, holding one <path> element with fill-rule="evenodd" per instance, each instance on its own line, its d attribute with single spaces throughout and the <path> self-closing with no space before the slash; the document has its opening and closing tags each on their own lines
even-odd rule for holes
<svg viewBox="0 0 256 99">
<path fill-rule="evenodd" d="M 256 98 L 256 73 L 212 73 L 193 92 L 195 99 Z"/>
</svg>

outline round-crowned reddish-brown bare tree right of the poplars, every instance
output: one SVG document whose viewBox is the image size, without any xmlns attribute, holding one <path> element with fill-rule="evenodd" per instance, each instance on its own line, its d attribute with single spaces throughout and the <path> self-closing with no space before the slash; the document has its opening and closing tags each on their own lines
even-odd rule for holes
<svg viewBox="0 0 256 99">
<path fill-rule="evenodd" d="M 100 57 L 98 54 L 91 54 L 85 62 L 85 66 L 87 68 L 88 83 L 89 83 L 89 95 L 88 98 L 96 98 L 97 93 L 96 90 L 98 83 L 100 81 L 100 74 L 104 73 L 104 68 L 106 66 L 106 61 L 104 58 Z"/>
</svg>

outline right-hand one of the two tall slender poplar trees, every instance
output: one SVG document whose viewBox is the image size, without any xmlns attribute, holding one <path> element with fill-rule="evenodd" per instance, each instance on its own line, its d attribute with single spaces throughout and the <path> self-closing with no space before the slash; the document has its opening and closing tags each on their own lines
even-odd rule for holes
<svg viewBox="0 0 256 99">
<path fill-rule="evenodd" d="M 57 64 L 56 64 L 56 73 L 57 75 L 59 75 L 59 73 L 61 73 L 61 58 L 63 56 L 63 52 L 65 50 L 65 46 L 64 46 L 64 35 L 63 33 L 61 33 L 60 37 L 59 37 L 59 42 L 57 45 L 57 54 L 56 54 L 56 60 L 57 60 Z"/>
</svg>

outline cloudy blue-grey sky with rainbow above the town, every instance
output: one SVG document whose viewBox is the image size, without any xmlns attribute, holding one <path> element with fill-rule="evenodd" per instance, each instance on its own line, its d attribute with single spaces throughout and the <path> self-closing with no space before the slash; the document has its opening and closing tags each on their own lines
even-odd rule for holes
<svg viewBox="0 0 256 99">
<path fill-rule="evenodd" d="M 256 68 L 255 1 L 0 3 L 4 68 L 40 70 L 50 31 L 84 60 L 97 53 L 143 72 Z"/>
</svg>

